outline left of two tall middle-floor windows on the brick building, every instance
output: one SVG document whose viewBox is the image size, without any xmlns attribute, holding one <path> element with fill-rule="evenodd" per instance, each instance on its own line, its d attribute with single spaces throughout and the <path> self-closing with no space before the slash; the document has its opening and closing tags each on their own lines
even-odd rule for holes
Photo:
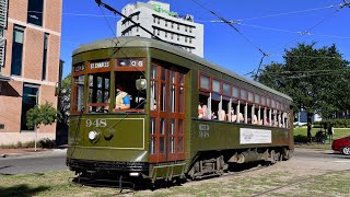
<svg viewBox="0 0 350 197">
<path fill-rule="evenodd" d="M 15 25 L 13 27 L 12 59 L 11 59 L 11 74 L 14 74 L 14 76 L 21 76 L 22 73 L 23 36 L 24 36 L 24 28 Z"/>
</svg>

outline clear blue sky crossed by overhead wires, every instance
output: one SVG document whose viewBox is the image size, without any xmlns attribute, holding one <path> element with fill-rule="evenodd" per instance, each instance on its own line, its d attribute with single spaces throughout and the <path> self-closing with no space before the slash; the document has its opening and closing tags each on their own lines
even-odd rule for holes
<svg viewBox="0 0 350 197">
<path fill-rule="evenodd" d="M 343 57 L 350 60 L 350 8 L 337 11 L 342 0 L 196 1 L 226 20 L 241 20 L 235 26 L 244 36 L 224 23 L 213 22 L 219 19 L 191 0 L 162 2 L 170 3 L 171 11 L 192 14 L 195 22 L 202 23 L 205 58 L 241 76 L 257 69 L 262 57 L 258 48 L 269 54 L 262 62 L 267 65 L 282 62 L 284 48 L 294 47 L 296 43 L 316 42 L 316 47 L 336 44 Z M 136 1 L 103 2 L 120 11 L 127 3 Z M 106 9 L 100 9 L 94 0 L 63 0 L 60 51 L 65 61 L 63 76 L 71 71 L 72 51 L 81 44 L 114 37 L 119 19 Z M 306 34 L 300 36 L 305 31 Z"/>
</svg>

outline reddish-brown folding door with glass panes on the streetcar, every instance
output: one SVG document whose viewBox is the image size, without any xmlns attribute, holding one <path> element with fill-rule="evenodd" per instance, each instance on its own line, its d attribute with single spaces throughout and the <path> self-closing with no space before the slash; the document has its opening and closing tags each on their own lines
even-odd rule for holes
<svg viewBox="0 0 350 197">
<path fill-rule="evenodd" d="M 150 162 L 185 159 L 185 72 L 151 67 Z"/>
</svg>

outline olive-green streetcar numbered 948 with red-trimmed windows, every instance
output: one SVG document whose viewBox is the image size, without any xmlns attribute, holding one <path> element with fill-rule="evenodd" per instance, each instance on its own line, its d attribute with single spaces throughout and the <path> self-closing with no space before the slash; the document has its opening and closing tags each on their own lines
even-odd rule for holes
<svg viewBox="0 0 350 197">
<path fill-rule="evenodd" d="M 80 177 L 201 178 L 292 157 L 291 97 L 179 47 L 118 37 L 72 61 L 67 165 Z"/>
</svg>

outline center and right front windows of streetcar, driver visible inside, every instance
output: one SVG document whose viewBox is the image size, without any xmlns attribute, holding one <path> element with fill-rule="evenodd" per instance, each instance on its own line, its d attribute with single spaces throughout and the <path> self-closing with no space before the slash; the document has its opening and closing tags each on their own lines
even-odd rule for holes
<svg viewBox="0 0 350 197">
<path fill-rule="evenodd" d="M 89 113 L 138 112 L 143 109 L 145 90 L 137 90 L 136 81 L 143 79 L 140 71 L 116 71 L 89 74 Z"/>
</svg>

